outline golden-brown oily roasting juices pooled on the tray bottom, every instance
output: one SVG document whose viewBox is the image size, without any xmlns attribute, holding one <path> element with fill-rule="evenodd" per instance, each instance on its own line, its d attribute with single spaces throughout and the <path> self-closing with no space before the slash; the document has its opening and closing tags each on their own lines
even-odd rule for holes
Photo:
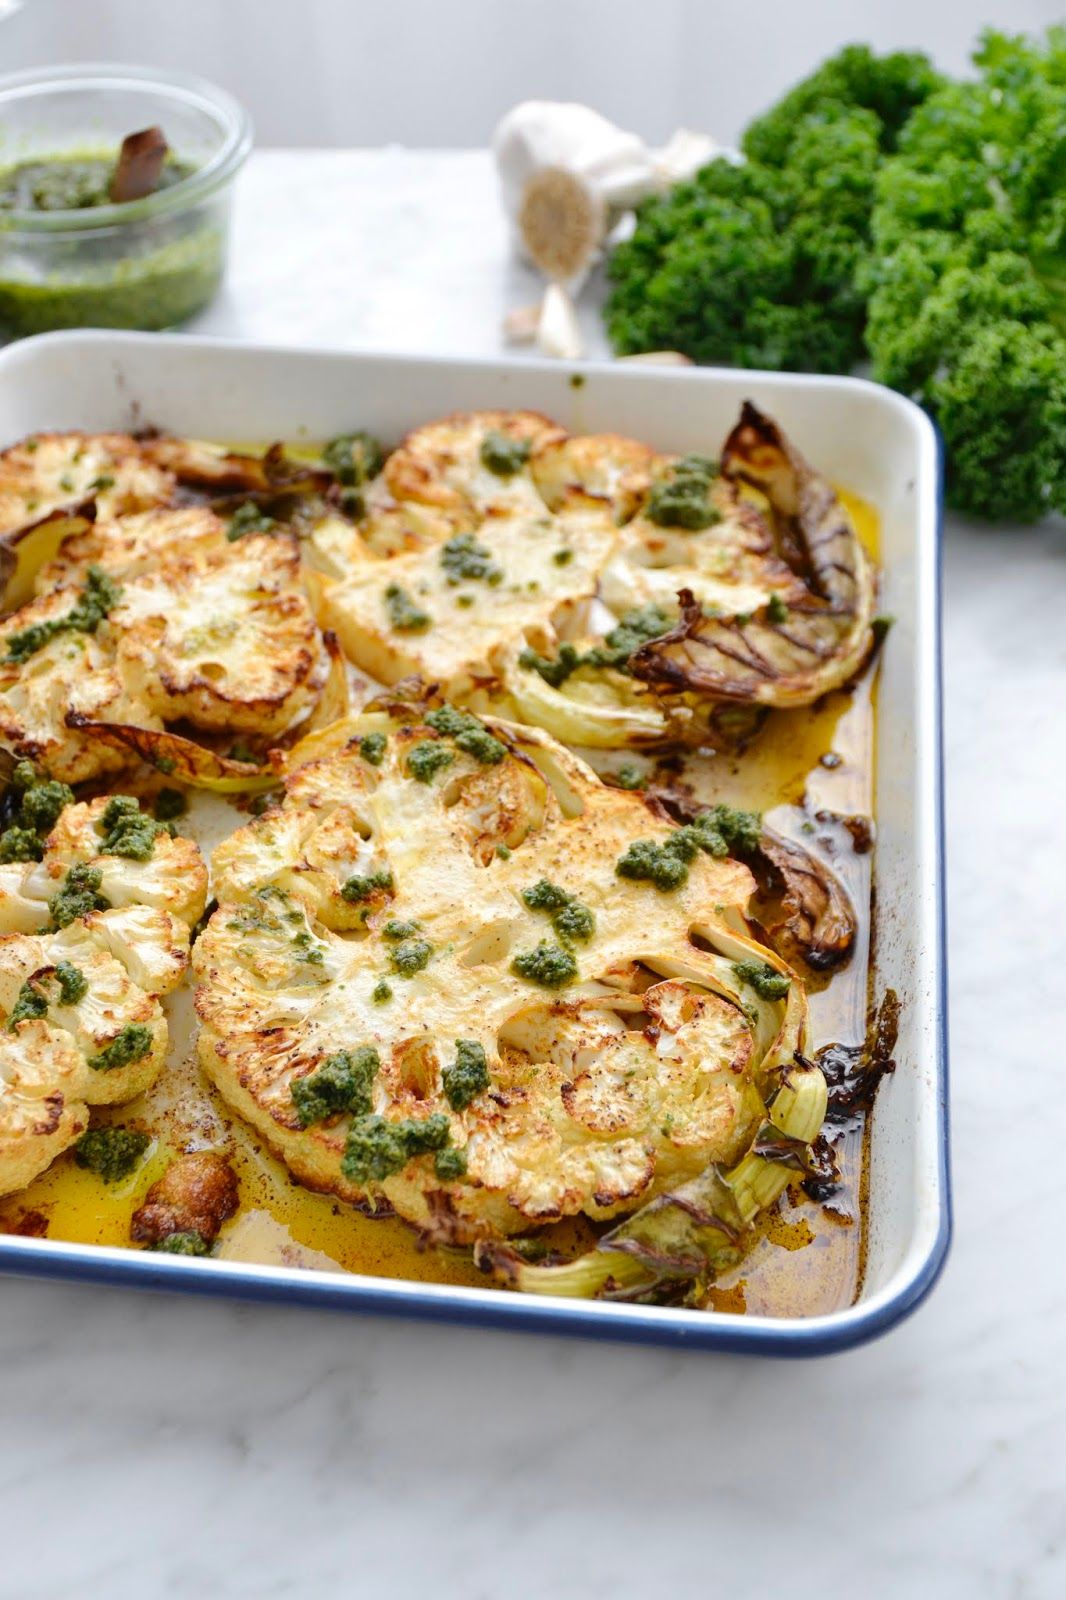
<svg viewBox="0 0 1066 1600">
<path fill-rule="evenodd" d="M 877 518 L 842 493 L 860 536 L 877 555 Z M 739 755 L 688 757 L 685 781 L 703 802 L 723 800 L 763 811 L 773 827 L 826 859 L 852 899 L 858 936 L 850 962 L 829 978 L 805 973 L 810 1043 L 860 1043 L 868 1010 L 869 901 L 874 853 L 863 850 L 840 818 L 872 818 L 874 678 L 868 667 L 847 691 L 804 710 L 773 712 Z M 240 818 L 234 813 L 234 822 Z M 856 845 L 860 848 L 856 848 Z M 206 1085 L 195 1059 L 195 1016 L 189 986 L 165 1003 L 171 1051 L 155 1088 L 139 1101 L 98 1115 L 150 1131 L 149 1158 L 125 1182 L 104 1186 L 66 1155 L 29 1189 L 0 1202 L 0 1229 L 45 1232 L 90 1245 L 128 1245 L 130 1219 L 146 1190 L 181 1149 L 224 1149 L 240 1182 L 242 1210 L 216 1254 L 250 1262 L 363 1272 L 375 1277 L 483 1285 L 469 1251 L 424 1248 L 399 1219 L 375 1221 L 330 1195 L 299 1187 L 245 1123 Z M 711 1290 L 707 1307 L 723 1312 L 802 1317 L 850 1304 L 860 1288 L 864 1251 L 861 1126 L 837 1142 L 842 1186 L 820 1205 L 792 1187 L 755 1224 L 755 1243 Z M 541 1235 L 554 1250 L 587 1248 L 586 1221 Z"/>
</svg>

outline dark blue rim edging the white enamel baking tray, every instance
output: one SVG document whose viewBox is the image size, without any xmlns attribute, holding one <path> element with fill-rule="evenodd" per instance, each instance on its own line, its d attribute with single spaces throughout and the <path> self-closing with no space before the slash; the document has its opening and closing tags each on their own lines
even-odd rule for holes
<svg viewBox="0 0 1066 1600">
<path fill-rule="evenodd" d="M 88 330 L 78 330 L 74 338 L 99 338 Z M 42 334 L 27 344 L 53 342 L 69 334 Z M 107 338 L 107 334 L 104 334 Z M 163 334 L 123 334 L 136 342 L 203 342 L 240 349 L 235 341 Z M 245 346 L 246 349 L 246 346 Z M 261 347 L 256 347 L 261 349 Z M 271 354 L 325 355 L 322 350 L 285 350 Z M 365 355 L 383 358 L 384 352 L 343 352 L 349 357 Z M 403 357 L 400 357 L 400 362 Z M 408 357 L 410 360 L 410 357 Z M 439 357 L 437 360 L 447 360 Z M 485 365 L 493 362 L 463 362 Z M 538 363 L 539 365 L 539 363 Z M 576 371 L 589 376 L 603 370 L 603 363 L 579 363 Z M 735 374 L 731 374 L 735 376 Z M 757 378 L 779 378 L 773 373 L 752 373 Z M 787 374 L 794 376 L 794 374 Z M 863 379 L 844 379 L 863 382 Z M 168 1290 L 186 1294 L 203 1294 L 226 1299 L 256 1301 L 262 1304 L 314 1306 L 330 1310 L 365 1312 L 376 1317 L 403 1317 L 416 1322 L 445 1322 L 477 1328 L 511 1328 L 520 1333 L 568 1334 L 586 1339 L 607 1339 L 626 1344 L 653 1344 L 674 1349 L 709 1350 L 743 1355 L 816 1357 L 866 1344 L 880 1338 L 909 1317 L 933 1290 L 951 1245 L 952 1189 L 951 1189 L 951 1139 L 948 1115 L 948 950 L 944 914 L 944 776 L 943 776 L 943 626 L 941 626 L 941 568 L 944 528 L 944 454 L 940 432 L 930 419 L 912 406 L 912 402 L 893 400 L 912 408 L 922 426 L 935 438 L 935 499 L 933 550 L 930 558 L 932 600 L 932 672 L 930 710 L 933 779 L 932 826 L 936 885 L 933 898 L 936 955 L 936 1024 L 935 1024 L 935 1139 L 936 1186 L 940 1206 L 936 1229 L 928 1238 L 920 1258 L 906 1275 L 890 1280 L 885 1291 L 856 1302 L 844 1310 L 826 1312 L 808 1318 L 771 1318 L 747 1315 L 723 1315 L 669 1307 L 607 1304 L 602 1301 L 554 1299 L 531 1294 L 515 1294 L 487 1283 L 480 1288 L 459 1288 L 439 1283 L 415 1283 L 402 1278 L 370 1278 L 360 1274 L 319 1272 L 291 1267 L 256 1267 L 248 1262 L 162 1256 L 150 1251 L 134 1251 L 101 1245 L 70 1245 L 48 1238 L 24 1238 L 0 1234 L 0 1272 L 34 1278 L 59 1278 L 75 1283 L 106 1283 L 120 1288 Z"/>
</svg>

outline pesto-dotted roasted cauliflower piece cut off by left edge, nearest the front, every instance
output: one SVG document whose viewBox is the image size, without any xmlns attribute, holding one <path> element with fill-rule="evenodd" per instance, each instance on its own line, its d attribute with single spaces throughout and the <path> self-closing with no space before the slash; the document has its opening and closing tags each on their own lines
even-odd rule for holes
<svg viewBox="0 0 1066 1600">
<path fill-rule="evenodd" d="M 205 896 L 197 846 L 130 798 L 66 806 L 40 861 L 0 866 L 0 1194 L 155 1080 Z"/>
</svg>

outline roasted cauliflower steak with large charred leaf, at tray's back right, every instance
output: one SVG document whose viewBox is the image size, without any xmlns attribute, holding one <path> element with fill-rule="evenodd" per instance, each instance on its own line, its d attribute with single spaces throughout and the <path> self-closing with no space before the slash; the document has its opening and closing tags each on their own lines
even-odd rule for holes
<svg viewBox="0 0 1066 1600">
<path fill-rule="evenodd" d="M 362 670 L 586 747 L 707 742 L 720 707 L 808 704 L 872 642 L 845 506 L 751 405 L 720 462 L 535 413 L 443 418 L 387 458 L 354 528 L 311 542 L 322 619 Z"/>
</svg>

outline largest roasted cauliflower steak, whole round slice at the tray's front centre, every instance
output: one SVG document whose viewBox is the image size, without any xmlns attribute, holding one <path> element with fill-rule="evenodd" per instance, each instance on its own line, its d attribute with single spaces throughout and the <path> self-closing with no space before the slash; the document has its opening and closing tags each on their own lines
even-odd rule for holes
<svg viewBox="0 0 1066 1600">
<path fill-rule="evenodd" d="M 383 696 L 214 851 L 203 1067 L 296 1179 L 439 1242 L 631 1211 L 736 1158 L 804 1040 L 696 835 L 538 730 Z"/>
</svg>

